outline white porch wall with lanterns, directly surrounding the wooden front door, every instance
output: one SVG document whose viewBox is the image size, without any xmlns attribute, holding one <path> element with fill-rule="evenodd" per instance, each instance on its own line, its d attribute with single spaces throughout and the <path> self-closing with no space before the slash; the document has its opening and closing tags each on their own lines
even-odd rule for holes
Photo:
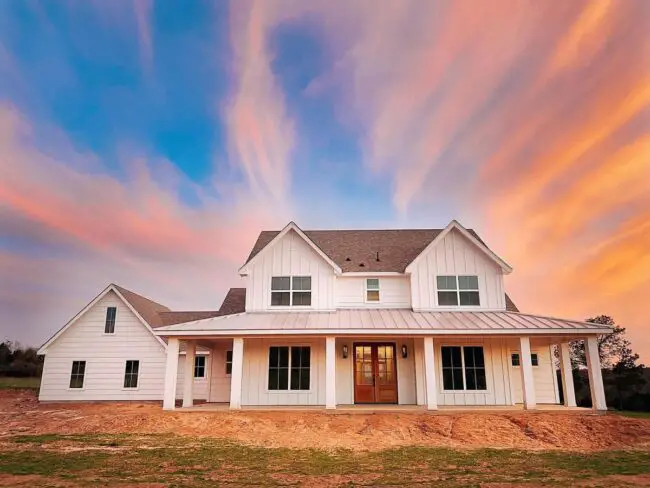
<svg viewBox="0 0 650 488">
<path fill-rule="evenodd" d="M 352 405 L 354 403 L 354 353 L 355 342 L 395 342 L 397 354 L 397 400 L 400 405 L 415 405 L 415 353 L 413 339 L 336 339 L 336 403 L 338 405 Z M 343 345 L 348 346 L 348 357 L 343 358 Z M 405 344 L 408 356 L 402 357 L 401 347 Z"/>
</svg>

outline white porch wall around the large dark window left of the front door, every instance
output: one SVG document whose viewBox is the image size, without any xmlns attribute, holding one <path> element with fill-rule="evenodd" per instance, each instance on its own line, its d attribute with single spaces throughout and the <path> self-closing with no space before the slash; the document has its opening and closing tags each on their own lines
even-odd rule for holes
<svg viewBox="0 0 650 488">
<path fill-rule="evenodd" d="M 309 391 L 269 391 L 269 347 L 311 346 Z M 325 405 L 325 340 L 245 339 L 242 405 Z"/>
</svg>

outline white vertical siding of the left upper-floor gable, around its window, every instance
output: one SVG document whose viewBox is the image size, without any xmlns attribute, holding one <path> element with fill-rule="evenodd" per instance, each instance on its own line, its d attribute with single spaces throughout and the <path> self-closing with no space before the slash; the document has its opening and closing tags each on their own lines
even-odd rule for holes
<svg viewBox="0 0 650 488">
<path fill-rule="evenodd" d="M 273 276 L 311 276 L 311 307 L 301 309 L 334 310 L 334 270 L 295 231 L 261 251 L 250 266 L 246 280 L 246 311 L 287 310 L 271 307 Z"/>
</svg>

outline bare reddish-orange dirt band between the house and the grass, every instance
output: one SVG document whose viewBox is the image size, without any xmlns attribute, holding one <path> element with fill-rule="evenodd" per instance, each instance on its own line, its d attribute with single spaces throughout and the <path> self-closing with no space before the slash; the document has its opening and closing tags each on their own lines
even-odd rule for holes
<svg viewBox="0 0 650 488">
<path fill-rule="evenodd" d="M 405 445 L 574 451 L 650 448 L 650 420 L 618 415 L 164 412 L 152 403 L 39 404 L 31 391 L 0 391 L 0 438 L 46 433 L 173 433 L 267 447 L 355 450 Z"/>
</svg>

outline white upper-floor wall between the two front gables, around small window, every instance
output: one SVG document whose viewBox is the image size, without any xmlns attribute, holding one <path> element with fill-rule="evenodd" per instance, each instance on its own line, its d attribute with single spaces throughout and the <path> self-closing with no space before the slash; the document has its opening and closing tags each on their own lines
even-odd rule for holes
<svg viewBox="0 0 650 488">
<path fill-rule="evenodd" d="M 408 276 L 378 276 L 379 302 L 366 303 L 366 279 L 363 276 L 337 276 L 338 308 L 410 308 L 411 280 Z M 371 278 L 375 278 L 371 276 Z"/>
</svg>

